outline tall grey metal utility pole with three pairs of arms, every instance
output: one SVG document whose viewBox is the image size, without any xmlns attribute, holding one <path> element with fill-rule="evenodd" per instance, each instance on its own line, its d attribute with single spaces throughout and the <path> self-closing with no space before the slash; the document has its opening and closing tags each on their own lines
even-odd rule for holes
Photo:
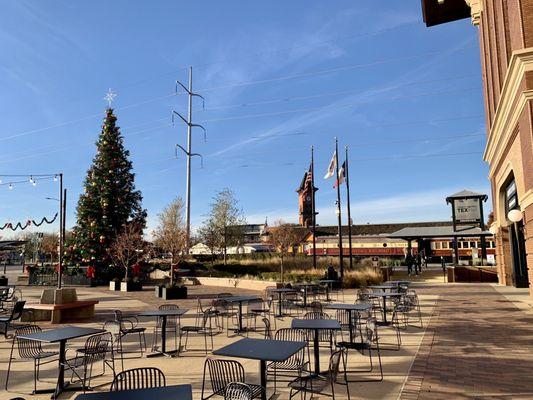
<svg viewBox="0 0 533 400">
<path fill-rule="evenodd" d="M 199 94 L 194 93 L 192 91 L 192 67 L 189 67 L 188 86 L 185 86 L 180 81 L 176 81 L 176 92 L 178 91 L 178 85 L 183 90 L 185 90 L 185 92 L 187 93 L 187 97 L 188 97 L 187 118 L 184 118 L 177 111 L 172 111 L 172 123 L 174 123 L 174 115 L 177 115 L 181 118 L 183 122 L 185 122 L 185 124 L 187 124 L 187 149 L 184 149 L 180 145 L 176 145 L 176 150 L 177 148 L 180 148 L 187 156 L 187 173 L 186 173 L 187 179 L 186 179 L 186 189 L 185 189 L 185 232 L 186 232 L 185 252 L 188 254 L 189 247 L 190 247 L 190 239 L 191 239 L 191 157 L 200 156 L 200 154 L 198 153 L 192 153 L 192 135 L 191 135 L 192 128 L 198 127 L 198 128 L 203 129 L 204 140 L 205 140 L 205 133 L 206 133 L 206 129 L 202 125 L 192 123 L 192 99 L 193 97 L 199 97 L 204 101 L 205 99 Z"/>
</svg>

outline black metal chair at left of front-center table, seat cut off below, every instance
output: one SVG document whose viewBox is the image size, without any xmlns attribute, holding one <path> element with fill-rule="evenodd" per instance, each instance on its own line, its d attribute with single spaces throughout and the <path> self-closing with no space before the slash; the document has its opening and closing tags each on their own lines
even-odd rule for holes
<svg viewBox="0 0 533 400">
<path fill-rule="evenodd" d="M 209 374 L 209 382 L 207 375 Z M 213 396 L 226 396 L 228 385 L 233 382 L 245 383 L 244 367 L 235 360 L 221 360 L 206 358 L 204 363 L 204 373 L 202 378 L 201 400 L 209 399 Z M 207 383 L 211 386 L 209 395 L 206 395 Z M 263 390 L 261 385 L 248 384 L 252 392 L 252 398 L 261 397 Z"/>
</svg>

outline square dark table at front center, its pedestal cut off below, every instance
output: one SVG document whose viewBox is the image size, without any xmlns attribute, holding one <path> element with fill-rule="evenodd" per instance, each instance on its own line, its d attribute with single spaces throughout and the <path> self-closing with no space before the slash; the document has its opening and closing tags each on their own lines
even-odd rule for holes
<svg viewBox="0 0 533 400">
<path fill-rule="evenodd" d="M 307 346 L 305 342 L 244 338 L 215 350 L 213 354 L 217 356 L 259 360 L 259 375 L 261 377 L 261 386 L 264 388 L 261 391 L 261 400 L 266 400 L 266 362 L 285 361 L 293 354 L 305 348 L 305 346 Z"/>
</svg>

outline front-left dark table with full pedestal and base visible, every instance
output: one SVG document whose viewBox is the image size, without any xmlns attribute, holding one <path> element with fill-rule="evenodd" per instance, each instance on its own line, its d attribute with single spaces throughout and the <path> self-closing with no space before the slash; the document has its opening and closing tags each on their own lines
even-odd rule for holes
<svg viewBox="0 0 533 400">
<path fill-rule="evenodd" d="M 67 341 L 104 332 L 105 331 L 103 329 L 66 326 L 64 328 L 50 329 L 43 332 L 20 335 L 20 339 L 35 340 L 42 343 L 59 343 L 57 385 L 53 389 L 50 388 L 37 390 L 35 391 L 35 394 L 52 393 L 52 399 L 56 399 L 61 393 L 65 391 L 73 392 L 77 390 L 83 390 L 83 387 L 70 387 L 69 383 L 65 383 L 65 353 Z"/>
</svg>

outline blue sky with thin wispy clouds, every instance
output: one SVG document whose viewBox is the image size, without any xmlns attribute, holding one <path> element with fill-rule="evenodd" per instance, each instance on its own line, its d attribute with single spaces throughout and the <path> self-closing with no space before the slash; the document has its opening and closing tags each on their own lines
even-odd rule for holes
<svg viewBox="0 0 533 400">
<path fill-rule="evenodd" d="M 185 193 L 186 130 L 170 116 L 186 112 L 174 82 L 192 65 L 207 128 L 193 138 L 193 225 L 224 187 L 249 222 L 296 221 L 311 145 L 318 223 L 334 223 L 322 176 L 335 136 L 355 223 L 445 220 L 447 194 L 489 193 L 477 36 L 469 20 L 426 28 L 418 0 L 1 1 L 0 174 L 62 171 L 71 226 L 112 88 L 153 228 Z M 0 223 L 53 215 L 57 192 L 0 186 Z"/>
</svg>

